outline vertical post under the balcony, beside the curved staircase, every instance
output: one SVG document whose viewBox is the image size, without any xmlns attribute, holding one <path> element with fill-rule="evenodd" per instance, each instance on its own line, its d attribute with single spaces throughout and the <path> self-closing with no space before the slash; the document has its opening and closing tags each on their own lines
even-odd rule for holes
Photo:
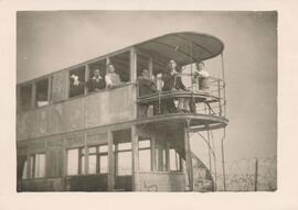
<svg viewBox="0 0 298 210">
<path fill-rule="evenodd" d="M 190 191 L 193 191 L 193 173 L 192 173 L 189 126 L 190 126 L 190 120 L 188 119 L 187 126 L 184 128 L 184 150 L 185 150 L 185 162 L 187 162 L 187 172 L 189 175 Z"/>
</svg>

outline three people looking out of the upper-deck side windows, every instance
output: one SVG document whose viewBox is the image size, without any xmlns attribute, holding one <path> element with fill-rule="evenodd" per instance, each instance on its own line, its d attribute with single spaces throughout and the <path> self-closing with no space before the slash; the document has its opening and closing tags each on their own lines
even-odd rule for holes
<svg viewBox="0 0 298 210">
<path fill-rule="evenodd" d="M 75 92 L 78 92 L 76 89 L 84 90 L 84 87 L 86 86 L 88 88 L 88 91 L 99 91 L 105 88 L 114 88 L 116 86 L 119 86 L 123 84 L 120 76 L 115 71 L 115 67 L 113 64 L 107 65 L 107 73 L 105 77 L 100 75 L 100 69 L 96 67 L 93 70 L 93 77 L 88 79 L 87 82 L 81 81 L 78 79 L 78 76 L 71 75 L 72 84 L 71 88 Z"/>
</svg>

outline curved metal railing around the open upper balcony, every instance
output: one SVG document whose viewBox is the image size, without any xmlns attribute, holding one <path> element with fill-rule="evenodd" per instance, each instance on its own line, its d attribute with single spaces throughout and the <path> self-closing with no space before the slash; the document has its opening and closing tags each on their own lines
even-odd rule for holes
<svg viewBox="0 0 298 210">
<path fill-rule="evenodd" d="M 178 77 L 191 77 L 190 74 L 179 74 Z M 209 77 L 204 86 L 198 80 L 191 79 L 185 90 L 157 90 L 153 93 L 138 96 L 138 118 L 151 118 L 160 114 L 187 113 L 187 114 L 211 114 L 225 117 L 225 82 L 222 79 Z M 139 92 L 139 90 L 138 90 Z M 189 109 L 179 109 L 179 103 L 189 103 Z M 170 103 L 174 103 L 175 110 L 170 110 Z"/>
</svg>

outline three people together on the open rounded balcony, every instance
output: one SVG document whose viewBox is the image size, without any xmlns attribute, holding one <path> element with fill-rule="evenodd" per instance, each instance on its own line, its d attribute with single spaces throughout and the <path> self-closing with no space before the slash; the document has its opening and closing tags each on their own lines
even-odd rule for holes
<svg viewBox="0 0 298 210">
<path fill-rule="evenodd" d="M 209 89 L 207 79 L 210 74 L 204 69 L 204 63 L 196 63 L 196 69 L 193 71 L 191 87 L 187 88 L 181 79 L 181 69 L 178 68 L 177 62 L 169 60 L 167 68 L 161 74 L 158 74 L 156 78 L 151 78 L 148 69 L 142 70 L 141 77 L 138 78 L 139 96 L 146 96 L 150 93 L 156 93 L 158 91 L 172 91 L 182 90 L 189 91 L 191 89 Z M 178 106 L 174 103 L 174 98 L 164 98 L 159 101 L 153 102 L 153 114 L 161 113 L 195 113 L 195 101 L 189 97 L 178 98 Z M 140 108 L 140 115 L 147 113 L 148 104 L 143 104 Z"/>
</svg>

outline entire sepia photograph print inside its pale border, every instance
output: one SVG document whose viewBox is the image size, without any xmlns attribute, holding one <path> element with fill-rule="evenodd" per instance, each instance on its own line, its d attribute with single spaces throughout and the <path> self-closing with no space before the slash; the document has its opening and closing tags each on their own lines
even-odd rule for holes
<svg viewBox="0 0 298 210">
<path fill-rule="evenodd" d="M 15 191 L 278 189 L 277 11 L 15 21 Z"/>
</svg>

